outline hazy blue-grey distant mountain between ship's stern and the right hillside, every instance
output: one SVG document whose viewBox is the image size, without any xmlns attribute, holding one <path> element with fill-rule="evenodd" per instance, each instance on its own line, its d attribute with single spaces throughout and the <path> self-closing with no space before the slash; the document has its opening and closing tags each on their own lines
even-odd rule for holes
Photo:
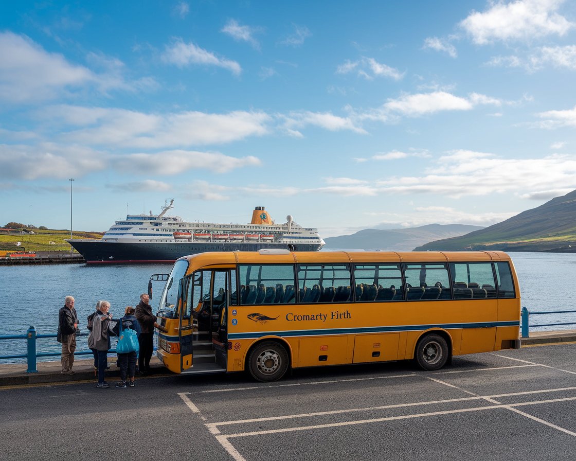
<svg viewBox="0 0 576 461">
<path fill-rule="evenodd" d="M 465 224 L 429 224 L 406 229 L 364 229 L 352 235 L 327 237 L 324 248 L 412 251 L 427 241 L 459 236 L 478 229 L 483 228 Z"/>
</svg>

